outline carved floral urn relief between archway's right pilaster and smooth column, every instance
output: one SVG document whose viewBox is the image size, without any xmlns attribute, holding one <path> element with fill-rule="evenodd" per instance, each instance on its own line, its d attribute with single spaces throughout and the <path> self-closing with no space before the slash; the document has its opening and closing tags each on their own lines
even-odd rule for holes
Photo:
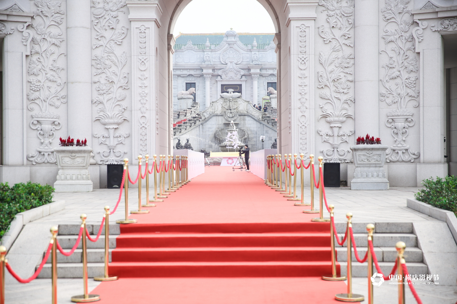
<svg viewBox="0 0 457 304">
<path fill-rule="evenodd" d="M 320 0 L 319 5 L 324 6 L 330 26 L 329 31 L 324 31 L 324 26 L 319 26 L 319 36 L 325 43 L 330 43 L 328 53 L 319 53 L 319 63 L 324 71 L 318 72 L 318 88 L 323 89 L 319 97 L 324 101 L 319 104 L 322 114 L 319 119 L 325 117 L 330 124 L 330 130 L 318 130 L 322 136 L 322 142 L 328 142 L 332 148 L 321 150 L 324 152 L 324 159 L 329 162 L 350 162 L 347 153 L 351 150 L 340 148 L 343 142 L 349 143 L 349 136 L 354 130 L 340 131 L 343 123 L 348 117 L 354 119 L 349 113 L 348 106 L 354 103 L 351 87 L 352 69 L 354 56 L 349 52 L 354 47 L 349 39 L 352 36 L 354 20 L 351 16 L 354 13 L 353 0 Z"/>
</svg>

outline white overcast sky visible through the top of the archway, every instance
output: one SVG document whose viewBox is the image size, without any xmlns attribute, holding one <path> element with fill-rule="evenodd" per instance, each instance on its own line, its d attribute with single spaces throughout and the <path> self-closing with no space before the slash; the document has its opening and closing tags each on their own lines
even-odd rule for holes
<svg viewBox="0 0 457 304">
<path fill-rule="evenodd" d="M 192 0 L 176 21 L 173 35 L 179 32 L 274 33 L 270 15 L 256 0 Z"/>
</svg>

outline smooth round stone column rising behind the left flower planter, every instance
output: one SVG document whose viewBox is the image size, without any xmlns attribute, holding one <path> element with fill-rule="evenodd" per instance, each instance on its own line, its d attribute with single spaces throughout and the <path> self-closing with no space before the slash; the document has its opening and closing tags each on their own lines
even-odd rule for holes
<svg viewBox="0 0 457 304">
<path fill-rule="evenodd" d="M 67 0 L 68 135 L 92 147 L 90 0 Z"/>
</svg>

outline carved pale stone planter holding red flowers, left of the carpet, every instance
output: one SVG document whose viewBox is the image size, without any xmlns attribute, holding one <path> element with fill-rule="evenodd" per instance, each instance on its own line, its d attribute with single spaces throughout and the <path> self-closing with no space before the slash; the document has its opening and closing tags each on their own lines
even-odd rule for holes
<svg viewBox="0 0 457 304">
<path fill-rule="evenodd" d="M 56 192 L 91 192 L 89 174 L 90 147 L 57 147 L 58 174 L 54 183 Z"/>
</svg>

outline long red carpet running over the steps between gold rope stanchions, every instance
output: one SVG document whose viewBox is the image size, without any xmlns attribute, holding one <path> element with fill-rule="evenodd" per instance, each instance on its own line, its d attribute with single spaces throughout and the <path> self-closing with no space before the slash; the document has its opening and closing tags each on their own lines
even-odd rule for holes
<svg viewBox="0 0 457 304">
<path fill-rule="evenodd" d="M 121 225 L 109 268 L 121 279 L 93 293 L 106 303 L 122 303 L 123 293 L 137 294 L 135 303 L 334 302 L 345 283 L 316 278 L 331 273 L 330 226 L 310 222 L 304 208 L 254 174 L 206 168 L 149 214 L 132 215 L 138 223 Z"/>
</svg>

